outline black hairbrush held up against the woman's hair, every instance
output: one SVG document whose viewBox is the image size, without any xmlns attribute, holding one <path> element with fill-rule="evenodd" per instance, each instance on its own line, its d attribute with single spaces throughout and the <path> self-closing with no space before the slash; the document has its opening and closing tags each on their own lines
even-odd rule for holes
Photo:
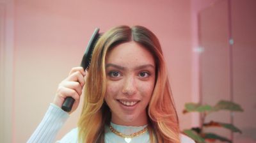
<svg viewBox="0 0 256 143">
<path fill-rule="evenodd" d="M 84 68 L 84 70 L 87 70 L 90 66 L 91 58 L 92 58 L 92 52 L 93 49 L 97 43 L 97 41 L 100 38 L 99 34 L 99 28 L 96 28 L 92 34 L 92 37 L 86 47 L 86 50 L 84 52 L 84 56 L 81 62 L 81 66 Z M 63 105 L 61 106 L 61 109 L 65 110 L 66 112 L 70 112 L 72 109 L 72 106 L 74 104 L 75 100 L 72 97 L 67 97 L 65 101 L 63 102 Z"/>
</svg>

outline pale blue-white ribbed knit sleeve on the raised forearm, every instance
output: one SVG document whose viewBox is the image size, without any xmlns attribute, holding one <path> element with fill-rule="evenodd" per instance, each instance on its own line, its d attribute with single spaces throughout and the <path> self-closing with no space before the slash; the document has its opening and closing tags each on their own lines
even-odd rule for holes
<svg viewBox="0 0 256 143">
<path fill-rule="evenodd" d="M 54 142 L 57 133 L 68 117 L 67 112 L 51 103 L 41 123 L 29 138 L 28 143 Z"/>
</svg>

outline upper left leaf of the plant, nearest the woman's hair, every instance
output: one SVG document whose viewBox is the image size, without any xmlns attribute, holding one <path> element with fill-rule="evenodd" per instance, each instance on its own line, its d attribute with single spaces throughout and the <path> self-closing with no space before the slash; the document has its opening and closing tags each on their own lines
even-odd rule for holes
<svg viewBox="0 0 256 143">
<path fill-rule="evenodd" d="M 206 112 L 211 110 L 212 107 L 210 105 L 200 105 L 199 103 L 186 103 L 183 113 L 185 114 L 187 112 Z"/>
</svg>

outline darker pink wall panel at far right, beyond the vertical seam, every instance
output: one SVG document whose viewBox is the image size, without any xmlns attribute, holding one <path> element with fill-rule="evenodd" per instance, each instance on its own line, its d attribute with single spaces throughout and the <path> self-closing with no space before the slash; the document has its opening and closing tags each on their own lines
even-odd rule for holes
<svg viewBox="0 0 256 143">
<path fill-rule="evenodd" d="M 234 114 L 234 124 L 243 131 L 235 134 L 235 143 L 256 142 L 256 1 L 231 2 L 234 101 L 244 108 Z"/>
</svg>

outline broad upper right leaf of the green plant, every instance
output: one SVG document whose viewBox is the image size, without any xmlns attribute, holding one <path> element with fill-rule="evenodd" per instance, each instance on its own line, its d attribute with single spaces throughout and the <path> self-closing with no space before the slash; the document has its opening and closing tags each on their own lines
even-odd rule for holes
<svg viewBox="0 0 256 143">
<path fill-rule="evenodd" d="M 234 112 L 243 112 L 244 110 L 237 103 L 221 100 L 214 106 L 214 111 L 218 110 L 230 110 Z"/>
</svg>

